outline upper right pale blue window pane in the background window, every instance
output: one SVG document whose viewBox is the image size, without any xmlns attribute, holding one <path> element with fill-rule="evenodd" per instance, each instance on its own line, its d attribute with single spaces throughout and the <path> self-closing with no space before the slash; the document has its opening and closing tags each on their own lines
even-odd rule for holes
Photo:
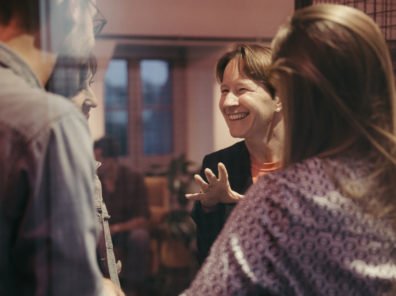
<svg viewBox="0 0 396 296">
<path fill-rule="evenodd" d="M 163 106 L 172 103 L 169 63 L 163 60 L 140 62 L 143 106 Z"/>
</svg>

